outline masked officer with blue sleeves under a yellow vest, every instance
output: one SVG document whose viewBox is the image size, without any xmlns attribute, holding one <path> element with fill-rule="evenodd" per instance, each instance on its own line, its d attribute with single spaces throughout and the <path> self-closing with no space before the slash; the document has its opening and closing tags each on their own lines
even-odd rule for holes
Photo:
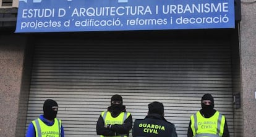
<svg viewBox="0 0 256 137">
<path fill-rule="evenodd" d="M 43 104 L 43 115 L 30 123 L 26 137 L 64 137 L 61 120 L 57 119 L 58 104 L 54 100 L 46 100 Z"/>
</svg>

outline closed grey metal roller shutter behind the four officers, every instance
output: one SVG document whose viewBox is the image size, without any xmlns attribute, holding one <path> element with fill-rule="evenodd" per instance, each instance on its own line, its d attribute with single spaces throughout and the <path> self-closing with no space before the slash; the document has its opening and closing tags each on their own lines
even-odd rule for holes
<svg viewBox="0 0 256 137">
<path fill-rule="evenodd" d="M 119 94 L 133 119 L 147 115 L 148 103 L 162 102 L 166 119 L 185 137 L 190 115 L 211 93 L 233 136 L 230 50 L 225 41 L 38 40 L 27 126 L 51 98 L 59 104 L 65 136 L 97 136 L 101 111 Z"/>
</svg>

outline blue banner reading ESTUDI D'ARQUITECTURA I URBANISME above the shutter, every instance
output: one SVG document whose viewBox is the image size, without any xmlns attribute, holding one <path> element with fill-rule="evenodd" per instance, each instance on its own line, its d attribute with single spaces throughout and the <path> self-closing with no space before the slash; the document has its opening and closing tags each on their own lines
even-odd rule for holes
<svg viewBox="0 0 256 137">
<path fill-rule="evenodd" d="M 234 0 L 19 0 L 16 33 L 234 28 Z"/>
</svg>

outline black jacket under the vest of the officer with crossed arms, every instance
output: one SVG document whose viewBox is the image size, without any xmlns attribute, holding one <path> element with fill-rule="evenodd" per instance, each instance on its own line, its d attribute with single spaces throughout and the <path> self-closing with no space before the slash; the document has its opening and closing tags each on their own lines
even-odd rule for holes
<svg viewBox="0 0 256 137">
<path fill-rule="evenodd" d="M 111 107 L 108 108 L 108 111 L 111 112 Z M 121 112 L 126 112 L 125 106 Z M 100 115 L 96 125 L 96 133 L 97 135 L 103 135 L 103 136 L 117 136 L 120 134 L 121 135 L 126 134 L 127 136 L 129 136 L 129 131 L 131 128 L 132 128 L 132 114 L 130 114 L 129 117 L 127 117 L 127 119 L 124 121 L 124 124 L 122 125 L 115 124 L 107 127 L 105 126 L 103 117 L 101 117 Z"/>
</svg>

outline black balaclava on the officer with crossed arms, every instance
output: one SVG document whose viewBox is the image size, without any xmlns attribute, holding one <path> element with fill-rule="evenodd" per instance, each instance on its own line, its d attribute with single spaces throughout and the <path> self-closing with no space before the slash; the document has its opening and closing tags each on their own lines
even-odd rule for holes
<svg viewBox="0 0 256 137">
<path fill-rule="evenodd" d="M 121 101 L 120 104 L 113 104 L 112 101 Z M 125 108 L 122 106 L 122 96 L 120 95 L 113 95 L 111 97 L 111 112 L 112 116 L 116 117 L 120 112 L 122 112 Z"/>
</svg>

